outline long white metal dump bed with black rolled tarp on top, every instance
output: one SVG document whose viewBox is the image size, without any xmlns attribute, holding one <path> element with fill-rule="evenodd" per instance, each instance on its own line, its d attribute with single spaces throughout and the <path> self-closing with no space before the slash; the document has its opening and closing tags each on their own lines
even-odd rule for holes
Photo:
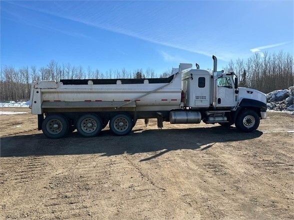
<svg viewBox="0 0 294 220">
<path fill-rule="evenodd" d="M 168 111 L 179 108 L 181 77 L 151 79 L 82 79 L 32 83 L 32 114 L 99 109 Z"/>
</svg>

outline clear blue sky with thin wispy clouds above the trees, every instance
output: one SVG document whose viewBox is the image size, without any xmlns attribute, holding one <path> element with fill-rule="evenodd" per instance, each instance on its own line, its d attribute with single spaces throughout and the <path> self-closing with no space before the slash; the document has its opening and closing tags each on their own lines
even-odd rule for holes
<svg viewBox="0 0 294 220">
<path fill-rule="evenodd" d="M 179 62 L 293 54 L 293 1 L 1 1 L 1 65 L 160 73 Z"/>
</svg>

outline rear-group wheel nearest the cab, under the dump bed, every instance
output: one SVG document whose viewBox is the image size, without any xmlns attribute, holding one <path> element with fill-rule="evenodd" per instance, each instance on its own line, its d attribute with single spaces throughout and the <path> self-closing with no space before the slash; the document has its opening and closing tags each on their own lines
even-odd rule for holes
<svg viewBox="0 0 294 220">
<path fill-rule="evenodd" d="M 131 117 L 127 114 L 114 115 L 109 122 L 110 131 L 115 135 L 126 135 L 128 134 L 133 126 Z"/>
</svg>

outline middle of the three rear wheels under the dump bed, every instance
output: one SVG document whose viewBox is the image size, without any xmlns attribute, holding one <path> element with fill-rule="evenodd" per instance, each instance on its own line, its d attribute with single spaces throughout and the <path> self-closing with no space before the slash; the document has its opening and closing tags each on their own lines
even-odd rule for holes
<svg viewBox="0 0 294 220">
<path fill-rule="evenodd" d="M 76 122 L 77 132 L 86 138 L 95 137 L 102 129 L 102 121 L 95 114 L 84 114 Z"/>
</svg>

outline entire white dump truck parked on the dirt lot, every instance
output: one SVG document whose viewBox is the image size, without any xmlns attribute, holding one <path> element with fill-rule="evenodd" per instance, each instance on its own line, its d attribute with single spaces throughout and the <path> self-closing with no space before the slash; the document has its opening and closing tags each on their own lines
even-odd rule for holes
<svg viewBox="0 0 294 220">
<path fill-rule="evenodd" d="M 48 138 L 61 138 L 77 129 L 94 137 L 109 123 L 115 135 L 126 135 L 137 119 L 157 118 L 171 124 L 218 123 L 240 131 L 254 131 L 266 118 L 265 94 L 238 87 L 233 72 L 192 69 L 180 63 L 168 78 L 64 79 L 31 85 L 31 113 L 38 130 Z"/>
</svg>

